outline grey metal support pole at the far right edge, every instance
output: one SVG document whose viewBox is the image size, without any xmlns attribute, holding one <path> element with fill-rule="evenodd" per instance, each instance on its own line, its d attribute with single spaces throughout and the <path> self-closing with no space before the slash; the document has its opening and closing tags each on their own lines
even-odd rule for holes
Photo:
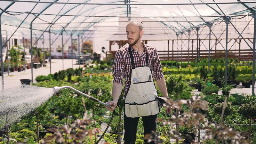
<svg viewBox="0 0 256 144">
<path fill-rule="evenodd" d="M 255 95 L 255 93 L 254 93 L 254 86 L 255 86 L 256 11 L 252 12 L 252 16 L 254 18 L 254 26 L 253 26 L 253 54 L 252 54 L 252 95 Z"/>
</svg>

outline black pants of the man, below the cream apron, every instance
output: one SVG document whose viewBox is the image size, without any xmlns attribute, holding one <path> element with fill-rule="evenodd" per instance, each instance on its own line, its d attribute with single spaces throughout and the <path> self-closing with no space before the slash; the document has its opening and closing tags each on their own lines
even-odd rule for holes
<svg viewBox="0 0 256 144">
<path fill-rule="evenodd" d="M 157 115 L 142 116 L 144 136 L 145 134 L 152 133 L 151 131 L 156 132 L 156 117 Z M 124 144 L 135 144 L 139 118 L 140 117 L 127 117 L 124 113 Z M 144 142 L 145 144 L 155 144 L 155 141 L 147 143 L 147 140 L 144 140 Z"/>
</svg>

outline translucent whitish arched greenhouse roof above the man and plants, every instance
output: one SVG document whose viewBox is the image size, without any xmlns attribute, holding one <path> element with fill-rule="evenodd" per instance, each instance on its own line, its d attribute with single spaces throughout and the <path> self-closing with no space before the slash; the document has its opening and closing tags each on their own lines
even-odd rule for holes
<svg viewBox="0 0 256 144">
<path fill-rule="evenodd" d="M 250 0 L 0 0 L 2 29 L 13 33 L 13 26 L 20 27 L 17 32 L 24 35 L 30 34 L 24 30 L 30 24 L 33 33 L 51 27 L 51 32 L 64 35 L 97 30 L 117 34 L 124 32 L 128 17 L 148 22 L 149 34 L 179 34 L 206 22 L 225 23 L 225 16 L 248 23 L 246 16 L 255 7 L 256 1 Z"/>
</svg>

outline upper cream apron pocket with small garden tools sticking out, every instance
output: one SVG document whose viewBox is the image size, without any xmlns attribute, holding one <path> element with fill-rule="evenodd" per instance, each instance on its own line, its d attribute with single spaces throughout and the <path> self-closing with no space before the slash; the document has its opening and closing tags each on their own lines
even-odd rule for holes
<svg viewBox="0 0 256 144">
<path fill-rule="evenodd" d="M 134 96 L 143 96 L 150 93 L 155 93 L 156 87 L 152 81 L 133 83 Z"/>
</svg>

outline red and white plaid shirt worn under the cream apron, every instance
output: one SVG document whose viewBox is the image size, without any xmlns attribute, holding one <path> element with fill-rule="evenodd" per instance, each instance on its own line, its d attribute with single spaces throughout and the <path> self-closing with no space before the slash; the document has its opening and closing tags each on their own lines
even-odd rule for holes
<svg viewBox="0 0 256 144">
<path fill-rule="evenodd" d="M 147 44 L 144 44 L 144 48 L 147 49 L 148 52 L 148 62 L 149 67 L 152 70 L 152 75 L 155 78 L 155 80 L 160 80 L 164 77 L 160 59 L 158 56 L 158 52 L 155 47 L 149 46 Z M 134 59 L 135 67 L 145 66 L 146 65 L 146 52 L 143 51 L 142 55 L 140 56 L 139 52 L 135 51 L 132 48 L 132 55 Z M 125 78 L 124 81 L 124 92 L 128 92 L 129 84 L 130 84 L 130 75 L 131 75 L 131 58 L 129 55 L 129 46 L 123 46 L 116 52 L 114 65 L 113 65 L 113 76 L 114 76 L 114 82 L 119 82 L 123 84 L 123 78 Z"/>
</svg>

